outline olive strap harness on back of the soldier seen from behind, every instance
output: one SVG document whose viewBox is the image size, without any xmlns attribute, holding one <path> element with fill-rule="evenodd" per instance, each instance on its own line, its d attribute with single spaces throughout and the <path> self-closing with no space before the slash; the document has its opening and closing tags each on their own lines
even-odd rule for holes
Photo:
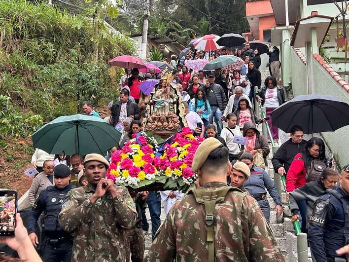
<svg viewBox="0 0 349 262">
<path fill-rule="evenodd" d="M 214 207 L 216 203 L 223 202 L 229 191 L 241 191 L 236 187 L 221 187 L 214 191 L 208 191 L 205 188 L 190 189 L 187 194 L 194 194 L 196 202 L 205 205 L 205 222 L 207 225 L 207 242 L 209 245 L 208 262 L 214 262 Z"/>
</svg>

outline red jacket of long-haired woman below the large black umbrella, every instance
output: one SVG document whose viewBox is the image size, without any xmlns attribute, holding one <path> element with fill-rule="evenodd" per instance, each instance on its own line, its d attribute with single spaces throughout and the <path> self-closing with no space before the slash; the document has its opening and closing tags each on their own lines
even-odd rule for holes
<svg viewBox="0 0 349 262">
<path fill-rule="evenodd" d="M 291 166 L 287 171 L 287 192 L 291 192 L 298 187 L 303 187 L 307 183 L 307 180 L 305 179 L 306 174 L 307 169 L 305 168 L 305 164 L 302 159 L 302 154 L 298 153 L 294 156 Z"/>
</svg>

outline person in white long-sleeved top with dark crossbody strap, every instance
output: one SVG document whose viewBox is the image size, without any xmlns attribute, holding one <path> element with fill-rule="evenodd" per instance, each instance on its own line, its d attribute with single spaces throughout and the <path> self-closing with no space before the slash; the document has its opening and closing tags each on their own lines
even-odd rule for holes
<svg viewBox="0 0 349 262">
<path fill-rule="evenodd" d="M 238 155 L 241 152 L 241 147 L 239 144 L 233 142 L 235 136 L 243 136 L 240 131 L 239 126 L 236 125 L 237 116 L 233 113 L 228 113 L 226 117 L 226 122 L 228 126 L 222 129 L 220 136 L 225 140 L 227 147 L 229 149 L 229 161 L 238 159 Z"/>
</svg>

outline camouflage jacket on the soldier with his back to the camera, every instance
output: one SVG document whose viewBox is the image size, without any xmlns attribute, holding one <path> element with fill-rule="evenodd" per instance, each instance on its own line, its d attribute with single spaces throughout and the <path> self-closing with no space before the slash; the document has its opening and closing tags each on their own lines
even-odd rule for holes
<svg viewBox="0 0 349 262">
<path fill-rule="evenodd" d="M 226 184 L 212 182 L 204 185 L 213 191 Z M 223 202 L 215 205 L 215 261 L 284 262 L 274 235 L 264 219 L 256 200 L 239 189 L 230 190 Z M 148 262 L 208 261 L 205 206 L 196 202 L 193 194 L 178 200 L 144 259 Z"/>
</svg>

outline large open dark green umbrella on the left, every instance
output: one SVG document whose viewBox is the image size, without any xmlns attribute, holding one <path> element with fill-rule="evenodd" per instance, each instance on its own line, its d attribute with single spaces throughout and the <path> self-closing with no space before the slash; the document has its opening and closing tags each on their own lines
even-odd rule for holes
<svg viewBox="0 0 349 262">
<path fill-rule="evenodd" d="M 60 116 L 33 135 L 33 147 L 50 154 L 104 154 L 119 145 L 121 133 L 100 117 L 74 114 Z"/>
</svg>

